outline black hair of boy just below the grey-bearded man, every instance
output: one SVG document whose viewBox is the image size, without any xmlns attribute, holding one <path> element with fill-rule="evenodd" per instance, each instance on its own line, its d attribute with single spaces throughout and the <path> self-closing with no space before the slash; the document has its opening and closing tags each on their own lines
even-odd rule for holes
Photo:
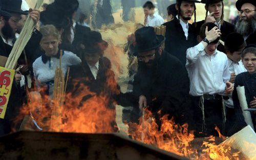
<svg viewBox="0 0 256 160">
<path fill-rule="evenodd" d="M 237 33 L 233 32 L 227 35 L 225 39 L 225 50 L 229 51 L 231 54 L 239 51 L 246 47 L 246 41 L 244 37 Z"/>
</svg>

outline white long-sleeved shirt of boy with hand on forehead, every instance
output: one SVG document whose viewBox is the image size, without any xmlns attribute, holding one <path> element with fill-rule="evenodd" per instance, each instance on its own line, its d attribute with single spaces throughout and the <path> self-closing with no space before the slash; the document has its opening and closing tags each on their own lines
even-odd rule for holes
<svg viewBox="0 0 256 160">
<path fill-rule="evenodd" d="M 190 95 L 224 95 L 226 81 L 230 79 L 226 54 L 216 50 L 214 54 L 208 55 L 204 45 L 199 43 L 187 49 L 186 68 L 190 79 Z"/>
</svg>

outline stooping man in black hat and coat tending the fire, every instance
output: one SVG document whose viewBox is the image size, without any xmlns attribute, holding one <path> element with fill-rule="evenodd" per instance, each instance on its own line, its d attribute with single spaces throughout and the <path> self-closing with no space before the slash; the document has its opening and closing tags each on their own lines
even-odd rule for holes
<svg viewBox="0 0 256 160">
<path fill-rule="evenodd" d="M 161 48 L 165 38 L 156 35 L 153 27 L 138 29 L 135 37 L 136 45 L 131 45 L 130 49 L 138 58 L 138 72 L 132 95 L 139 101 L 140 109 L 148 106 L 159 127 L 160 117 L 166 114 L 174 117 L 176 123 L 191 122 L 193 111 L 189 108 L 189 80 L 185 66 Z"/>
</svg>

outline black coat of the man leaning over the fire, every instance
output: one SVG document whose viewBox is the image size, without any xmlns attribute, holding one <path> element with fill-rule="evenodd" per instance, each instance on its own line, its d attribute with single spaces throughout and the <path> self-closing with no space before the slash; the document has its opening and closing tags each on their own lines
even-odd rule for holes
<svg viewBox="0 0 256 160">
<path fill-rule="evenodd" d="M 149 109 L 161 116 L 174 116 L 177 123 L 189 123 L 193 116 L 189 100 L 189 79 L 185 66 L 167 52 L 162 53 L 154 71 L 139 63 L 133 94 L 144 95 Z"/>
</svg>

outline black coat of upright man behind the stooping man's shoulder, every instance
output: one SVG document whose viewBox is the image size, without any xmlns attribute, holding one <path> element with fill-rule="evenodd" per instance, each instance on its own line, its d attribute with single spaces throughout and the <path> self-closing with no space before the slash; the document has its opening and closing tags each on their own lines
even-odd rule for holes
<svg viewBox="0 0 256 160">
<path fill-rule="evenodd" d="M 186 40 L 182 26 L 175 17 L 174 20 L 163 24 L 166 26 L 165 33 L 165 51 L 177 57 L 181 63 L 186 64 L 186 51 L 190 47 L 198 44 L 197 35 L 193 31 L 192 26 L 188 25 L 188 39 Z"/>
</svg>

